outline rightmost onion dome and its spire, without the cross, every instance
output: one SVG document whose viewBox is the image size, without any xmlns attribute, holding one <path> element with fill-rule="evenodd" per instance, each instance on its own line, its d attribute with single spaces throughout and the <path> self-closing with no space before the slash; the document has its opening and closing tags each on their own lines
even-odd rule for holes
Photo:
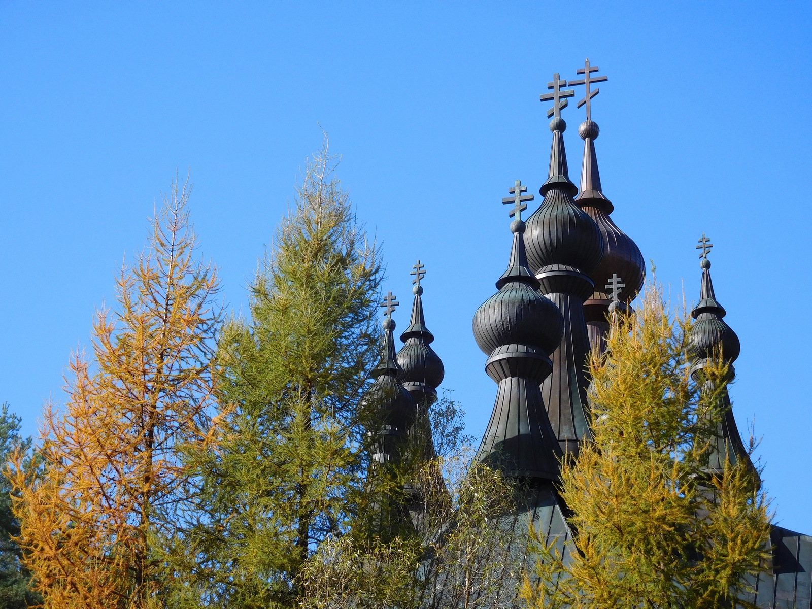
<svg viewBox="0 0 812 609">
<path fill-rule="evenodd" d="M 702 258 L 702 290 L 699 302 L 691 311 L 696 321 L 689 334 L 689 356 L 695 360 L 706 360 L 716 357 L 719 348 L 723 361 L 732 364 L 741 352 L 741 343 L 736 332 L 732 330 L 723 317 L 727 313 L 722 305 L 716 302 L 711 282 L 711 261 Z"/>
</svg>

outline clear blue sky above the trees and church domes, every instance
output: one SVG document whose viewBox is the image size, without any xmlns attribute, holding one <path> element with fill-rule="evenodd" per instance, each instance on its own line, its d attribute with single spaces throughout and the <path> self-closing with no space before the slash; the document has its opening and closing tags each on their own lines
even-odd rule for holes
<svg viewBox="0 0 812 609">
<path fill-rule="evenodd" d="M 812 533 L 810 2 L 0 2 L 0 400 L 36 431 L 72 349 L 178 167 L 229 307 L 321 143 L 482 433 L 495 385 L 471 335 L 508 260 L 500 199 L 546 177 L 538 94 L 589 57 L 615 222 L 698 296 L 694 244 L 741 337 L 779 522 Z M 564 110 L 571 174 L 577 124 Z M 533 205 L 538 204 L 538 199 Z M 685 283 L 683 283 L 685 282 Z M 408 307 L 395 315 L 401 327 Z"/>
</svg>

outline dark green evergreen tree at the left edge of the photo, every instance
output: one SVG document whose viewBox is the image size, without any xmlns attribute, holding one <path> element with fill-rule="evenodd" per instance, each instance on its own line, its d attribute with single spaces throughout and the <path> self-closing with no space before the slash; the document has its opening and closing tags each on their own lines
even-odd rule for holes
<svg viewBox="0 0 812 609">
<path fill-rule="evenodd" d="M 31 438 L 22 438 L 19 416 L 9 412 L 8 404 L 0 407 L 0 462 L 5 464 L 15 451 L 30 454 Z M 28 461 L 28 468 L 32 462 Z M 0 477 L 0 607 L 22 609 L 41 601 L 30 588 L 31 573 L 21 560 L 22 550 L 15 538 L 19 535 L 19 520 L 11 509 L 11 482 Z"/>
</svg>

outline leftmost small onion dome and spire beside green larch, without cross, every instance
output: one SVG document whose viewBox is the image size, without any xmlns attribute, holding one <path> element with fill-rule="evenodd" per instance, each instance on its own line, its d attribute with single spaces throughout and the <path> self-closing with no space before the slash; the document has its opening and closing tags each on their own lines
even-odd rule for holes
<svg viewBox="0 0 812 609">
<path fill-rule="evenodd" d="M 414 420 L 416 405 L 404 389 L 399 378 L 403 374 L 395 359 L 395 321 L 383 320 L 381 359 L 372 371 L 375 381 L 364 395 L 365 404 L 378 408 L 379 417 L 387 433 L 405 434 Z"/>
</svg>

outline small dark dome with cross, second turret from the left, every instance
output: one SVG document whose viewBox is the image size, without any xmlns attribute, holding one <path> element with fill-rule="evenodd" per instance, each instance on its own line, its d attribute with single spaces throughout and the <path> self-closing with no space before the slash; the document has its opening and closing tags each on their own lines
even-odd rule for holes
<svg viewBox="0 0 812 609">
<path fill-rule="evenodd" d="M 440 360 L 430 344 L 434 341 L 434 335 L 425 326 L 423 317 L 423 287 L 420 282 L 425 275 L 424 266 L 418 260 L 412 267 L 412 274 L 415 275 L 414 301 L 412 302 L 412 319 L 408 328 L 400 335 L 400 340 L 404 342 L 404 347 L 397 355 L 397 361 L 403 374 L 400 381 L 406 391 L 418 404 L 431 404 L 437 399 L 437 387 L 443 382 L 445 369 L 443 361 Z"/>
</svg>

